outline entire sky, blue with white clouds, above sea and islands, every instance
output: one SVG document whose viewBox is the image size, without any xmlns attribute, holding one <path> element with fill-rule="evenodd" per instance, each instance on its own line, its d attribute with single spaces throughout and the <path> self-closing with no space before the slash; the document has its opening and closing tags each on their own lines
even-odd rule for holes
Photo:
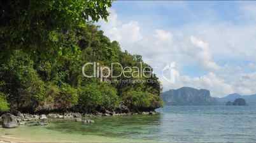
<svg viewBox="0 0 256 143">
<path fill-rule="evenodd" d="M 256 93 L 256 2 L 115 1 L 110 13 L 101 29 L 122 49 L 141 54 L 164 90 Z M 168 77 L 162 69 L 170 64 L 175 74 Z"/>
</svg>

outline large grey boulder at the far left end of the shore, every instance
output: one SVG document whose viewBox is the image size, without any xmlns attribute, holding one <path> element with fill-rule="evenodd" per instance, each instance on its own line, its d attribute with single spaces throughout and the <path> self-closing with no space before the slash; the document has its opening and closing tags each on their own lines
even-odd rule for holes
<svg viewBox="0 0 256 143">
<path fill-rule="evenodd" d="M 18 127 L 17 117 L 11 115 L 10 113 L 6 113 L 1 116 L 1 122 L 3 128 L 16 128 Z"/>
</svg>

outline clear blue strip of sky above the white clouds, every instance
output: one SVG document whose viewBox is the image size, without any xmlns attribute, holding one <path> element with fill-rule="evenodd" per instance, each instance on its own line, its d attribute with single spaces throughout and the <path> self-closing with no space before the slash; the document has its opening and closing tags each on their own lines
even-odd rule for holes
<svg viewBox="0 0 256 143">
<path fill-rule="evenodd" d="M 150 22 L 153 28 L 180 27 L 187 23 L 218 22 L 219 20 L 243 23 L 239 19 L 241 4 L 238 1 L 116 1 L 113 3 L 120 20 Z M 154 19 L 152 21 L 152 18 Z"/>
</svg>

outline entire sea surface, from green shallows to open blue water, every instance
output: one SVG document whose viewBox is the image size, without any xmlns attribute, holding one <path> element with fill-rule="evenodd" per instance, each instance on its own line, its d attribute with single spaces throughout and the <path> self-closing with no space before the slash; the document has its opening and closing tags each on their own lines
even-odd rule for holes
<svg viewBox="0 0 256 143">
<path fill-rule="evenodd" d="M 170 106 L 157 111 L 153 116 L 94 118 L 90 125 L 53 121 L 46 127 L 1 129 L 0 134 L 49 142 L 256 142 L 256 106 Z"/>
</svg>

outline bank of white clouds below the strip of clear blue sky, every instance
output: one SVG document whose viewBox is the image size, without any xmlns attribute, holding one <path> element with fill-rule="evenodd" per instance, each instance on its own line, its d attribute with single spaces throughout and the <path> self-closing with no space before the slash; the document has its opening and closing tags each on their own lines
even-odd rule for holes
<svg viewBox="0 0 256 143">
<path fill-rule="evenodd" d="M 256 25 L 191 23 L 145 34 L 139 21 L 122 22 L 115 10 L 110 12 L 109 22 L 101 23 L 105 34 L 129 52 L 141 54 L 164 90 L 190 86 L 209 89 L 216 97 L 256 93 Z M 163 77 L 162 70 L 170 63 L 175 63 L 174 82 L 173 77 Z"/>
</svg>

